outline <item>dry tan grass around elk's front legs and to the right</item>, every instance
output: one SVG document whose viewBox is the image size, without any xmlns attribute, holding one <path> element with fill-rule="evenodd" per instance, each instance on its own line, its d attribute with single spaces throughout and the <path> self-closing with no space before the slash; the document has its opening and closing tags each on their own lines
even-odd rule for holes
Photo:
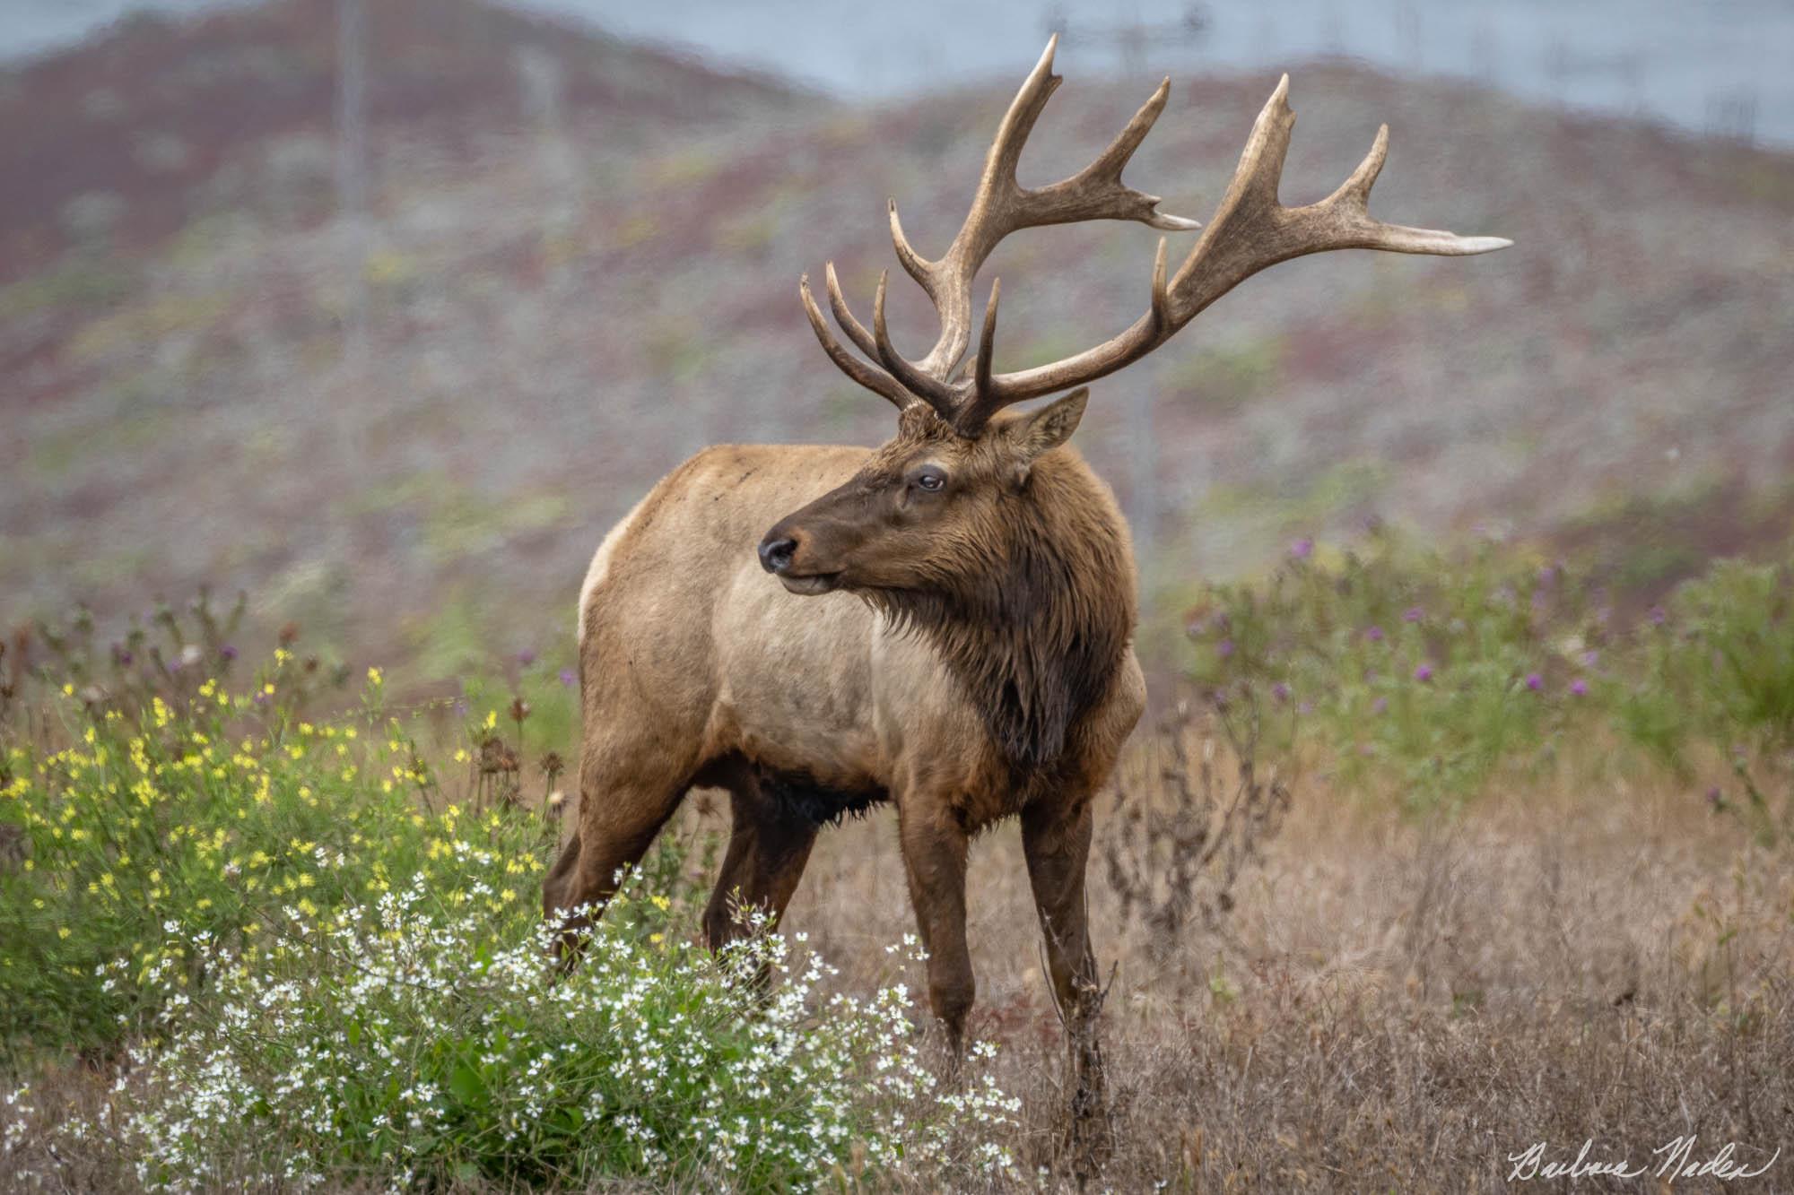
<svg viewBox="0 0 1794 1195">
<path fill-rule="evenodd" d="M 1123 784 L 1152 775 L 1150 750 Z M 1685 1134 L 1697 1161 L 1794 1150 L 1794 877 L 1697 795 L 1564 782 L 1401 822 L 1299 786 L 1265 854 L 1224 919 L 1170 942 L 1093 867 L 1116 965 L 1103 1186 L 1502 1190 L 1537 1141 L 1570 1163 L 1593 1138 L 1589 1157 L 1650 1181 Z M 1010 1145 L 1057 1175 L 1058 1026 L 1012 829 L 981 842 L 971 885 L 974 1030 L 1028 1096 Z M 910 928 L 892 827 L 829 834 L 786 928 L 868 981 L 854 967 Z M 1582 1186 L 1606 1182 L 1640 1190 Z M 1790 1190 L 1794 1159 L 1728 1186 Z"/>
</svg>

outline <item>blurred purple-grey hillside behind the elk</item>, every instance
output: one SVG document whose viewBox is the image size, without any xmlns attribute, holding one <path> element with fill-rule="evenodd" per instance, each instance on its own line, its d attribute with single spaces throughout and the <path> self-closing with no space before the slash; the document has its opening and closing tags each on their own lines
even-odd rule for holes
<svg viewBox="0 0 1794 1195">
<path fill-rule="evenodd" d="M 0 75 L 0 619 L 210 581 L 418 676 L 565 650 L 588 554 L 685 454 L 888 432 L 797 276 L 832 257 L 870 310 L 886 196 L 938 253 L 1008 86 L 854 109 L 470 0 L 368 7 L 359 217 L 328 0 Z M 1067 77 L 1024 181 L 1154 83 Z M 1274 83 L 1175 81 L 1128 179 L 1206 219 Z M 1078 440 L 1161 610 L 1372 517 L 1593 554 L 1636 594 L 1785 536 L 1794 158 L 1328 63 L 1292 102 L 1286 203 L 1387 120 L 1380 215 L 1518 244 L 1281 266 L 1096 388 Z M 1154 248 L 1003 246 L 999 366 L 1125 327 Z M 892 301 L 917 350 L 931 312 Z"/>
</svg>

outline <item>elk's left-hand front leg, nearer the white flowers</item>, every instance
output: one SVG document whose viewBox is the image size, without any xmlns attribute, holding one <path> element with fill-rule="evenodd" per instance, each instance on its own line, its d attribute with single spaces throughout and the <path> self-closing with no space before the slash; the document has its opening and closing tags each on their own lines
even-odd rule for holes
<svg viewBox="0 0 1794 1195">
<path fill-rule="evenodd" d="M 965 831 L 942 824 L 936 809 L 899 802 L 902 863 L 910 879 L 922 949 L 927 951 L 927 1003 L 947 1032 L 954 1066 L 965 1050 L 965 1017 L 978 996 L 972 953 L 965 946 Z"/>
</svg>

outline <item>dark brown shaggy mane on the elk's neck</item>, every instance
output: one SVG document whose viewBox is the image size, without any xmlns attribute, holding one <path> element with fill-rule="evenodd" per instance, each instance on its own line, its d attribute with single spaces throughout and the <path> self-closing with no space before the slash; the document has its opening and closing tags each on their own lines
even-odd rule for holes
<svg viewBox="0 0 1794 1195">
<path fill-rule="evenodd" d="M 1039 768 L 1114 684 L 1134 633 L 1127 529 L 1073 454 L 1035 463 L 1001 529 L 938 590 L 875 605 L 927 637 L 1012 766 Z"/>
</svg>

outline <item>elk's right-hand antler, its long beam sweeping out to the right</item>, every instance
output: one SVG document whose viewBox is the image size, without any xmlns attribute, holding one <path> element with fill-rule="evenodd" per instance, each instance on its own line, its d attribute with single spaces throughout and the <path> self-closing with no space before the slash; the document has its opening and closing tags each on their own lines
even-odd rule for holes
<svg viewBox="0 0 1794 1195">
<path fill-rule="evenodd" d="M 1467 257 L 1512 244 L 1505 237 L 1459 237 L 1432 228 L 1385 224 L 1371 217 L 1367 208 L 1371 187 L 1389 153 L 1387 126 L 1378 131 L 1371 153 L 1358 169 L 1331 196 L 1302 208 L 1277 203 L 1290 129 L 1295 126 L 1288 90 L 1290 77 L 1283 75 L 1252 124 L 1252 135 L 1215 219 L 1170 283 L 1163 280 L 1161 248 L 1159 262 L 1154 266 L 1152 309 L 1114 339 L 1075 357 L 992 377 L 981 406 L 996 409 L 1114 373 L 1163 345 L 1243 280 L 1293 257 L 1329 249 Z"/>
</svg>

